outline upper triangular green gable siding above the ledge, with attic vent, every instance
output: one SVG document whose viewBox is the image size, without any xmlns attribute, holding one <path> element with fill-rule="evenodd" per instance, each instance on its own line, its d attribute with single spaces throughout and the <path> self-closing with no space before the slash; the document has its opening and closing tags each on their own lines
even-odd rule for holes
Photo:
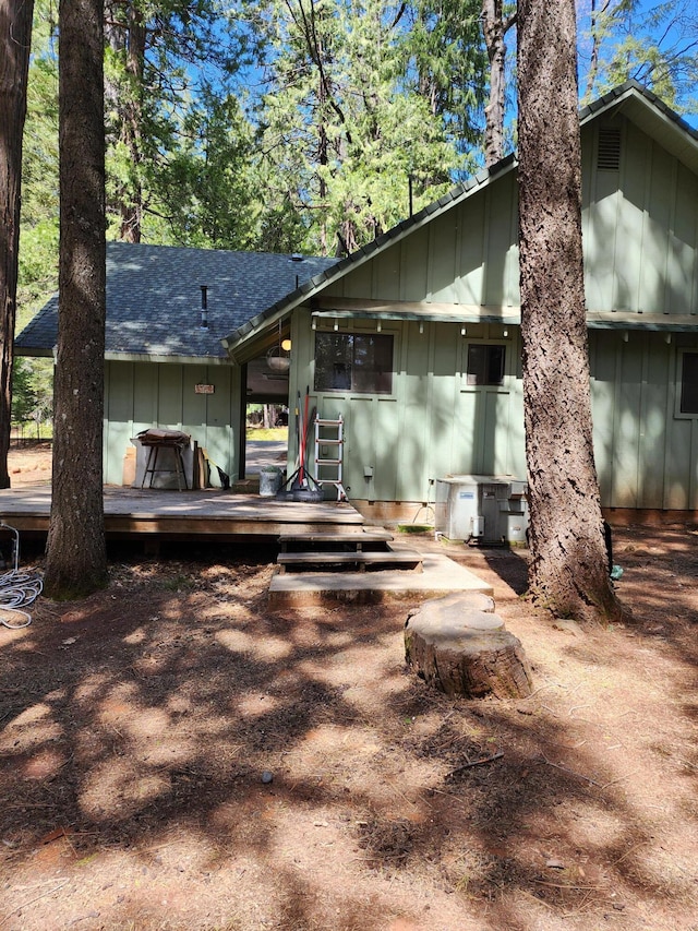
<svg viewBox="0 0 698 931">
<path fill-rule="evenodd" d="M 621 130 L 617 170 L 595 167 L 604 126 Z M 582 130 L 582 192 L 588 308 L 696 313 L 698 178 L 617 115 Z M 518 307 L 516 172 L 471 192 L 325 294 L 426 307 Z"/>
</svg>

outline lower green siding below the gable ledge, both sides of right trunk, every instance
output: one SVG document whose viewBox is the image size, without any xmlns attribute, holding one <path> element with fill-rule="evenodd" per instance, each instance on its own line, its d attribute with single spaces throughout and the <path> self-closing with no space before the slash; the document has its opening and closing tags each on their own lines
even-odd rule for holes
<svg viewBox="0 0 698 931">
<path fill-rule="evenodd" d="M 457 324 L 424 323 L 420 333 L 413 321 L 385 322 L 382 332 L 395 341 L 395 375 L 393 394 L 381 396 L 313 391 L 310 321 L 308 311 L 297 312 L 297 384 L 301 395 L 310 386 L 310 406 L 321 416 L 345 418 L 350 499 L 426 502 L 433 500 L 431 480 L 447 474 L 526 476 L 518 327 L 468 325 L 464 336 Z M 339 331 L 375 332 L 375 324 L 340 324 Z M 467 384 L 467 346 L 474 342 L 506 345 L 502 386 Z M 681 347 L 698 350 L 698 338 L 674 334 L 667 343 L 660 333 L 630 331 L 626 342 L 622 331 L 590 333 L 594 453 L 604 506 L 698 509 L 698 418 L 675 413 Z M 373 467 L 370 481 L 364 466 Z"/>
</svg>

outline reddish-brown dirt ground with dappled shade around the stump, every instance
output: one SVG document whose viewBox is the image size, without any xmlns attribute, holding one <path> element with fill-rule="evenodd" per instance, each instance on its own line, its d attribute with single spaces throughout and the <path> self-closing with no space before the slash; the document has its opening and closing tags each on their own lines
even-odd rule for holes
<svg viewBox="0 0 698 931">
<path fill-rule="evenodd" d="M 447 550 L 525 646 L 517 702 L 413 677 L 413 602 L 269 611 L 273 550 L 112 551 L 0 626 L 1 931 L 698 931 L 698 537 L 614 541 L 611 630 Z"/>
</svg>

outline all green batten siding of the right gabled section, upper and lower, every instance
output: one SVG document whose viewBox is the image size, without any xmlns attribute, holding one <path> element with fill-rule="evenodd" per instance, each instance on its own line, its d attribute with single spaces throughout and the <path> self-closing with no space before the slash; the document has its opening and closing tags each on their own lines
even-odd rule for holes
<svg viewBox="0 0 698 931">
<path fill-rule="evenodd" d="M 618 160 L 599 164 L 599 142 L 618 133 Z M 698 310 L 698 179 L 622 114 L 582 129 L 582 236 L 587 306 L 592 311 L 672 315 Z M 515 171 L 474 189 L 318 297 L 481 307 L 519 306 Z M 697 318 L 698 321 L 698 318 Z M 320 321 L 317 326 L 332 323 Z M 375 331 L 375 321 L 338 320 L 339 330 Z M 504 336 L 504 331 L 507 336 Z M 390 396 L 327 393 L 323 416 L 347 425 L 350 498 L 430 500 L 430 481 L 448 473 L 525 476 L 520 341 L 516 326 L 425 320 L 382 321 L 395 336 Z M 469 341 L 507 345 L 498 387 L 468 386 Z M 669 339 L 669 342 L 667 342 Z M 312 386 L 312 332 L 296 315 L 301 349 L 292 391 Z M 637 329 L 590 332 L 594 451 L 606 508 L 698 509 L 698 421 L 676 414 L 679 349 L 698 350 L 689 334 Z M 304 355 L 303 355 L 304 354 Z M 364 466 L 373 479 L 363 477 Z"/>
</svg>

